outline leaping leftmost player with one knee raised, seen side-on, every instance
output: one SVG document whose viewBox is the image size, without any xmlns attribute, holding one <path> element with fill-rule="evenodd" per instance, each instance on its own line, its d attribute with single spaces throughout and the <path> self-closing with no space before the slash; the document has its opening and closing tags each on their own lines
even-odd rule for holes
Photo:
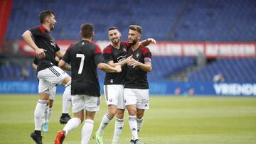
<svg viewBox="0 0 256 144">
<path fill-rule="evenodd" d="M 41 26 L 36 26 L 23 33 L 23 40 L 36 52 L 38 58 L 37 77 L 39 79 L 38 93 L 39 100 L 36 104 L 34 112 L 35 131 L 31 133 L 31 138 L 36 143 L 42 143 L 41 126 L 43 123 L 43 113 L 46 109 L 46 105 L 49 99 L 50 89 L 55 87 L 56 84 L 65 86 L 63 93 L 63 99 L 70 98 L 70 82 L 71 77 L 65 73 L 60 67 L 54 65 L 55 55 L 63 57 L 64 52 L 60 51 L 60 48 L 55 42 L 55 39 L 50 34 L 57 23 L 53 11 L 42 11 L 39 14 Z M 33 39 L 34 38 L 34 41 Z M 62 120 L 67 122 L 68 113 L 63 113 Z M 65 118 L 65 119 L 63 119 Z"/>
</svg>

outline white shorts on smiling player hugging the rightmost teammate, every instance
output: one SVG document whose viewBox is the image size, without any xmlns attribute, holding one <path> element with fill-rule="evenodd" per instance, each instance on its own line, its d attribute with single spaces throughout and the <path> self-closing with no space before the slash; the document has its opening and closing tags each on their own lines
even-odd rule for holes
<svg viewBox="0 0 256 144">
<path fill-rule="evenodd" d="M 124 106 L 124 85 L 104 85 L 104 94 L 107 106 L 114 105 L 117 109 L 125 109 Z"/>
</svg>

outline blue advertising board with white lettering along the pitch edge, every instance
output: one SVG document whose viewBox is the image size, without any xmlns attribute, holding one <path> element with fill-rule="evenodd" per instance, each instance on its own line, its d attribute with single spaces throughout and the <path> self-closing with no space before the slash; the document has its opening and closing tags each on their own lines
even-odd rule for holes
<svg viewBox="0 0 256 144">
<path fill-rule="evenodd" d="M 103 82 L 100 82 L 103 94 Z M 150 82 L 149 94 L 174 96 L 256 96 L 255 83 Z M 64 88 L 58 86 L 57 93 Z M 37 81 L 0 81 L 0 94 L 36 94 Z"/>
</svg>

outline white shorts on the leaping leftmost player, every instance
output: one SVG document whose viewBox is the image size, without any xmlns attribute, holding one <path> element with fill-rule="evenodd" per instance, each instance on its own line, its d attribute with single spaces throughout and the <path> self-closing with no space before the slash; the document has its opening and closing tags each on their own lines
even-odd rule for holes
<svg viewBox="0 0 256 144">
<path fill-rule="evenodd" d="M 60 67 L 48 67 L 44 70 L 38 72 L 38 93 L 47 93 L 50 94 L 50 89 L 55 87 L 56 84 L 61 84 L 63 79 L 67 77 L 68 74 L 65 73 Z"/>
</svg>

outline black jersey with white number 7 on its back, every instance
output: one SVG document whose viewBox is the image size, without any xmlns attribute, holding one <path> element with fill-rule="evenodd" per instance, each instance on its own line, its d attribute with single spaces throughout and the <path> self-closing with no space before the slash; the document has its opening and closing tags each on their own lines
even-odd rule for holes
<svg viewBox="0 0 256 144">
<path fill-rule="evenodd" d="M 98 45 L 87 40 L 80 40 L 68 48 L 62 60 L 70 63 L 72 67 L 72 95 L 100 96 L 97 65 L 105 61 Z"/>
</svg>

